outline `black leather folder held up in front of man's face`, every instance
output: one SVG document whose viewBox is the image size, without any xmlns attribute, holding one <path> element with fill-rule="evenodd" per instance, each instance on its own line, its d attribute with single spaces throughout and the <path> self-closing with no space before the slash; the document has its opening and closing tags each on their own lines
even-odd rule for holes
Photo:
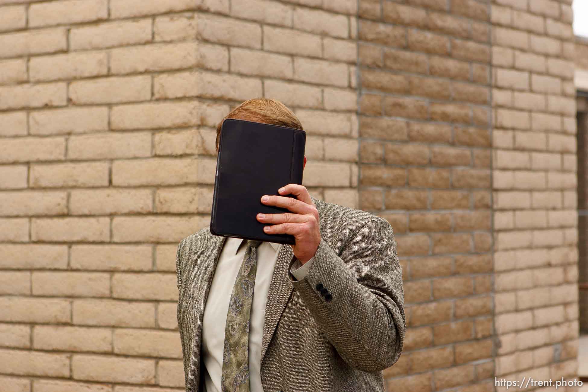
<svg viewBox="0 0 588 392">
<path fill-rule="evenodd" d="M 279 195 L 278 189 L 290 183 L 302 185 L 305 144 L 306 133 L 300 129 L 226 119 L 216 158 L 211 233 L 294 244 L 290 234 L 263 232 L 263 226 L 271 224 L 259 222 L 256 216 L 288 212 L 264 205 L 261 197 Z"/>
</svg>

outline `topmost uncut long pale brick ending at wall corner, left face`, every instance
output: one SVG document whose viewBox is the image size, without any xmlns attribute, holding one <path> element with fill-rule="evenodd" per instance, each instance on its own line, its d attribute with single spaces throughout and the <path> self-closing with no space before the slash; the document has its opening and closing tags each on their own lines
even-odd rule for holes
<svg viewBox="0 0 588 392">
<path fill-rule="evenodd" d="M 111 73 L 141 73 L 192 68 L 198 62 L 196 44 L 155 43 L 111 49 Z"/>
</svg>

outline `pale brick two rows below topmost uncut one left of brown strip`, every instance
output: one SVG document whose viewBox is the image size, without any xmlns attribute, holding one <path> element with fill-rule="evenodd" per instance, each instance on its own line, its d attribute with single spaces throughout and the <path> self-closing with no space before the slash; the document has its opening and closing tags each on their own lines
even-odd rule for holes
<svg viewBox="0 0 588 392">
<path fill-rule="evenodd" d="M 338 62 L 295 57 L 293 78 L 308 83 L 346 87 L 348 68 Z"/>
</svg>

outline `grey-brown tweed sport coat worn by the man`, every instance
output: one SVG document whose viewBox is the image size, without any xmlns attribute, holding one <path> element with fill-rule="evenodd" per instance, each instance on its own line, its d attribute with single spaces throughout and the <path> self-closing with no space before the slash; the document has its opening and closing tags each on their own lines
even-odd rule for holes
<svg viewBox="0 0 588 392">
<path fill-rule="evenodd" d="M 400 357 L 406 330 L 392 227 L 362 210 L 312 201 L 321 235 L 312 267 L 294 282 L 289 271 L 296 259 L 292 247 L 283 245 L 270 280 L 261 349 L 263 390 L 384 391 L 382 370 Z M 225 240 L 207 226 L 183 239 L 176 253 L 188 392 L 203 391 L 202 319 Z"/>
</svg>

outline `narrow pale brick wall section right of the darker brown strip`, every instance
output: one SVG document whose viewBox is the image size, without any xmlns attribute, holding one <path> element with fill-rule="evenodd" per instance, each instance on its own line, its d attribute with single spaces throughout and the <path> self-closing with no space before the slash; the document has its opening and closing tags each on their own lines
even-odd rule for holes
<svg viewBox="0 0 588 392">
<path fill-rule="evenodd" d="M 576 102 L 571 3 L 492 3 L 499 378 L 560 380 L 577 374 Z"/>
</svg>

